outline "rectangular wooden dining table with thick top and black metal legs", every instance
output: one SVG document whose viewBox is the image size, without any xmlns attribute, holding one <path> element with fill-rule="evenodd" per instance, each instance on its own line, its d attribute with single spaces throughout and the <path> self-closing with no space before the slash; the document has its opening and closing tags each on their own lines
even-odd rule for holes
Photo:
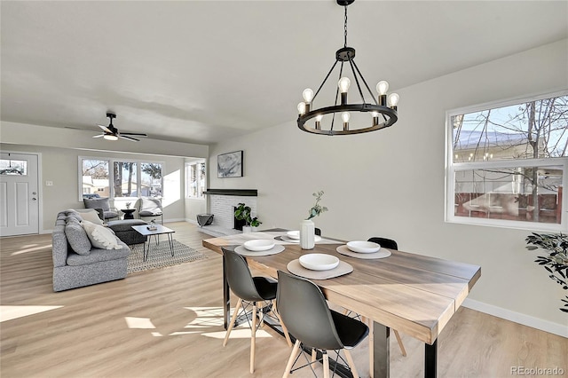
<svg viewBox="0 0 568 378">
<path fill-rule="evenodd" d="M 330 303 L 373 319 L 373 376 L 389 377 L 391 328 L 424 343 L 424 376 L 437 376 L 438 336 L 481 276 L 479 266 L 392 249 L 385 258 L 360 259 L 337 252 L 338 247 L 345 245 L 342 240 L 323 238 L 313 249 L 302 249 L 298 243 L 281 240 L 285 235 L 281 229 L 240 233 L 206 239 L 202 244 L 222 254 L 222 248 L 235 248 L 246 240 L 274 240 L 284 245 L 284 251 L 270 256 L 247 256 L 251 268 L 273 278 L 278 277 L 279 270 L 288 272 L 288 263 L 302 255 L 337 256 L 351 264 L 353 271 L 333 279 L 312 281 Z M 229 294 L 224 277 L 225 327 L 230 311 Z"/>
</svg>

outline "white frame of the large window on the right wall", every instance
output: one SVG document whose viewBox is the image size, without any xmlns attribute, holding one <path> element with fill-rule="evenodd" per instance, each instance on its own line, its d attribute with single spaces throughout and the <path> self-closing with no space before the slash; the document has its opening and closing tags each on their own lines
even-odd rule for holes
<svg viewBox="0 0 568 378">
<path fill-rule="evenodd" d="M 446 223 L 455 224 L 475 224 L 493 227 L 504 227 L 529 231 L 544 232 L 568 232 L 568 158 L 558 157 L 549 159 L 508 159 L 500 161 L 473 161 L 473 162 L 454 162 L 454 130 L 452 117 L 459 114 L 469 114 L 481 112 L 488 109 L 503 106 L 512 106 L 530 101 L 538 101 L 545 98 L 567 96 L 568 91 L 559 91 L 540 95 L 527 96 L 522 98 L 510 98 L 508 100 L 488 102 L 476 106 L 465 106 L 446 112 L 446 193 L 445 193 L 445 220 Z M 548 224 L 540 222 L 515 221 L 505 219 L 490 219 L 482 217 L 459 217 L 454 215 L 455 201 L 455 172 L 467 169 L 497 169 L 497 168 L 522 168 L 522 167 L 563 167 L 563 193 L 562 193 L 562 220 L 560 224 Z"/>
</svg>

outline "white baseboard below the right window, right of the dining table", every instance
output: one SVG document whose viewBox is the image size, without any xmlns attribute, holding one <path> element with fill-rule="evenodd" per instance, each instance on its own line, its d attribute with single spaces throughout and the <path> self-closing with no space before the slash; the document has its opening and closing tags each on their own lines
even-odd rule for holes
<svg viewBox="0 0 568 378">
<path fill-rule="evenodd" d="M 493 306 L 493 304 L 478 302 L 469 298 L 466 298 L 465 301 L 463 301 L 462 306 L 496 316 L 497 318 L 514 321 L 515 323 L 522 324 L 527 327 L 533 327 L 540 329 L 541 331 L 549 332 L 550 334 L 568 338 L 568 327 L 565 324 L 558 324 L 548 320 L 534 318 L 520 312 L 510 311 L 501 307 Z"/>
</svg>

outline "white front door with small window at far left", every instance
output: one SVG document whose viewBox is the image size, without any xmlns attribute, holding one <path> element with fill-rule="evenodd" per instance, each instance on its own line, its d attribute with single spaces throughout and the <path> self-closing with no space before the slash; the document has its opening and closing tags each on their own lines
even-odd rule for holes
<svg viewBox="0 0 568 378">
<path fill-rule="evenodd" d="M 37 155 L 1 154 L 0 236 L 39 233 Z"/>
</svg>

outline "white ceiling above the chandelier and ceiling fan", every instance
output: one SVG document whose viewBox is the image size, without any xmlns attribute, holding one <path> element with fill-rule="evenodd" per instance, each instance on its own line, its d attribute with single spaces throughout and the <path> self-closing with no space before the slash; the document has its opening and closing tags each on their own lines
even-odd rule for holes
<svg viewBox="0 0 568 378">
<path fill-rule="evenodd" d="M 1 118 L 211 144 L 296 120 L 343 47 L 320 1 L 2 1 Z M 348 45 L 398 90 L 568 36 L 567 1 L 362 1 Z M 404 106 L 404 98 L 400 100 Z M 99 139 L 101 143 L 110 143 Z"/>
</svg>

